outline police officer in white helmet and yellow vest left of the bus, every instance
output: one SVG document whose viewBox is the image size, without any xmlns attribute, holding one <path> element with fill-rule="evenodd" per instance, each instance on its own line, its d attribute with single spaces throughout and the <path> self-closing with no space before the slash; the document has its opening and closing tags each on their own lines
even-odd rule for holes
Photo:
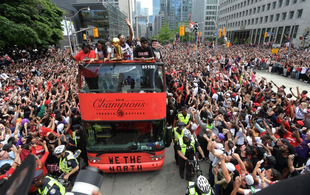
<svg viewBox="0 0 310 195">
<path fill-rule="evenodd" d="M 75 179 L 78 176 L 79 169 L 78 161 L 74 157 L 73 153 L 68 150 L 66 151 L 65 145 L 60 145 L 54 149 L 53 155 L 55 155 L 57 158 L 60 158 L 59 169 L 66 173 L 64 179 L 69 179 L 69 181 L 73 185 Z"/>
</svg>

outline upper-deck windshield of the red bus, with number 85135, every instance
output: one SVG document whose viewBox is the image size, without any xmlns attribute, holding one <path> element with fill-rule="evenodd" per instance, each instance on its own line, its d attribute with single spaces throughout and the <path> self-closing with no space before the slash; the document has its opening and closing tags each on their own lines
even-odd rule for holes
<svg viewBox="0 0 310 195">
<path fill-rule="evenodd" d="M 82 93 L 164 92 L 163 65 L 155 63 L 89 64 L 82 68 Z"/>
</svg>

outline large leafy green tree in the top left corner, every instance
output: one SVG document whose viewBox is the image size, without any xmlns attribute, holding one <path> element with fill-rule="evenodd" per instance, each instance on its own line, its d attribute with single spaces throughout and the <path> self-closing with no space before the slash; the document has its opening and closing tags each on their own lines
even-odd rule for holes
<svg viewBox="0 0 310 195">
<path fill-rule="evenodd" d="M 51 0 L 2 0 L 0 49 L 15 44 L 47 48 L 59 43 L 64 13 Z"/>
</svg>

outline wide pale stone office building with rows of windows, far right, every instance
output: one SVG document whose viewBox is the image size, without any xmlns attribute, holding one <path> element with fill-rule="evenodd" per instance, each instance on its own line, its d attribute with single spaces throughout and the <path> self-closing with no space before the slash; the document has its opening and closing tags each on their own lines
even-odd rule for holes
<svg viewBox="0 0 310 195">
<path fill-rule="evenodd" d="M 263 44 L 286 42 L 284 35 L 290 35 L 294 46 L 301 46 L 299 37 L 303 37 L 309 26 L 308 1 L 227 1 L 220 0 L 219 28 L 226 27 L 226 35 L 231 42 L 238 39 L 244 43 Z M 269 34 L 264 37 L 265 33 Z"/>
</svg>

